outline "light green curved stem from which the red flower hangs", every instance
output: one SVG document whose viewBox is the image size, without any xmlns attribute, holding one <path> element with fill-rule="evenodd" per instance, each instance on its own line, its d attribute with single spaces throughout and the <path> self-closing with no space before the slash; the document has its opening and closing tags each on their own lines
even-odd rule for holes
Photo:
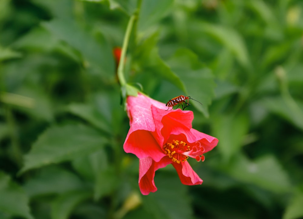
<svg viewBox="0 0 303 219">
<path fill-rule="evenodd" d="M 118 80 L 122 87 L 126 85 L 126 80 L 124 77 L 124 63 L 125 63 L 124 60 L 125 60 L 125 56 L 126 56 L 126 50 L 127 50 L 127 46 L 128 46 L 128 42 L 129 42 L 129 37 L 132 33 L 132 27 L 133 27 L 136 19 L 137 19 L 137 13 L 134 13 L 128 21 L 128 25 L 127 25 L 124 40 L 123 40 L 122 52 L 121 52 L 121 57 L 120 57 L 120 61 L 119 61 L 119 66 L 118 66 Z"/>
</svg>

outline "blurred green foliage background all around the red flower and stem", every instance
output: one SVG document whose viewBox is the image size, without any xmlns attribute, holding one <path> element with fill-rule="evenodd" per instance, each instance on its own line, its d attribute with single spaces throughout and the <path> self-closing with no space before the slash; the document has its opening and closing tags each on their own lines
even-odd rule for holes
<svg viewBox="0 0 303 219">
<path fill-rule="evenodd" d="M 128 83 L 219 139 L 202 185 L 143 196 L 123 151 L 134 13 Z M 0 218 L 303 218 L 302 63 L 301 0 L 1 0 Z"/>
</svg>

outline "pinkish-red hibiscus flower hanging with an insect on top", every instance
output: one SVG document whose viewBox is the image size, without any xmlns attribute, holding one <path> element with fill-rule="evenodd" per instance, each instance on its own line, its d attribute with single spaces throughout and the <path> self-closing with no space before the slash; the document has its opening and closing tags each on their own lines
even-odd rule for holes
<svg viewBox="0 0 303 219">
<path fill-rule="evenodd" d="M 159 168 L 172 164 L 185 185 L 203 182 L 187 159 L 204 161 L 203 153 L 213 149 L 218 139 L 191 127 L 192 111 L 167 110 L 164 103 L 143 94 L 128 96 L 130 129 L 123 148 L 139 158 L 139 187 L 143 195 L 155 192 L 154 176 Z"/>
</svg>

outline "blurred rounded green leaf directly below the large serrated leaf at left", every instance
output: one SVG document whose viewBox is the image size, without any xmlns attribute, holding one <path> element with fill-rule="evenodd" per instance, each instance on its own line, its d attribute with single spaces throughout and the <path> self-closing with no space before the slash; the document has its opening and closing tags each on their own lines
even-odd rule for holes
<svg viewBox="0 0 303 219">
<path fill-rule="evenodd" d="M 79 177 L 71 171 L 58 166 L 50 166 L 41 169 L 37 176 L 29 179 L 24 189 L 30 197 L 33 197 L 80 190 L 83 186 Z"/>
</svg>

